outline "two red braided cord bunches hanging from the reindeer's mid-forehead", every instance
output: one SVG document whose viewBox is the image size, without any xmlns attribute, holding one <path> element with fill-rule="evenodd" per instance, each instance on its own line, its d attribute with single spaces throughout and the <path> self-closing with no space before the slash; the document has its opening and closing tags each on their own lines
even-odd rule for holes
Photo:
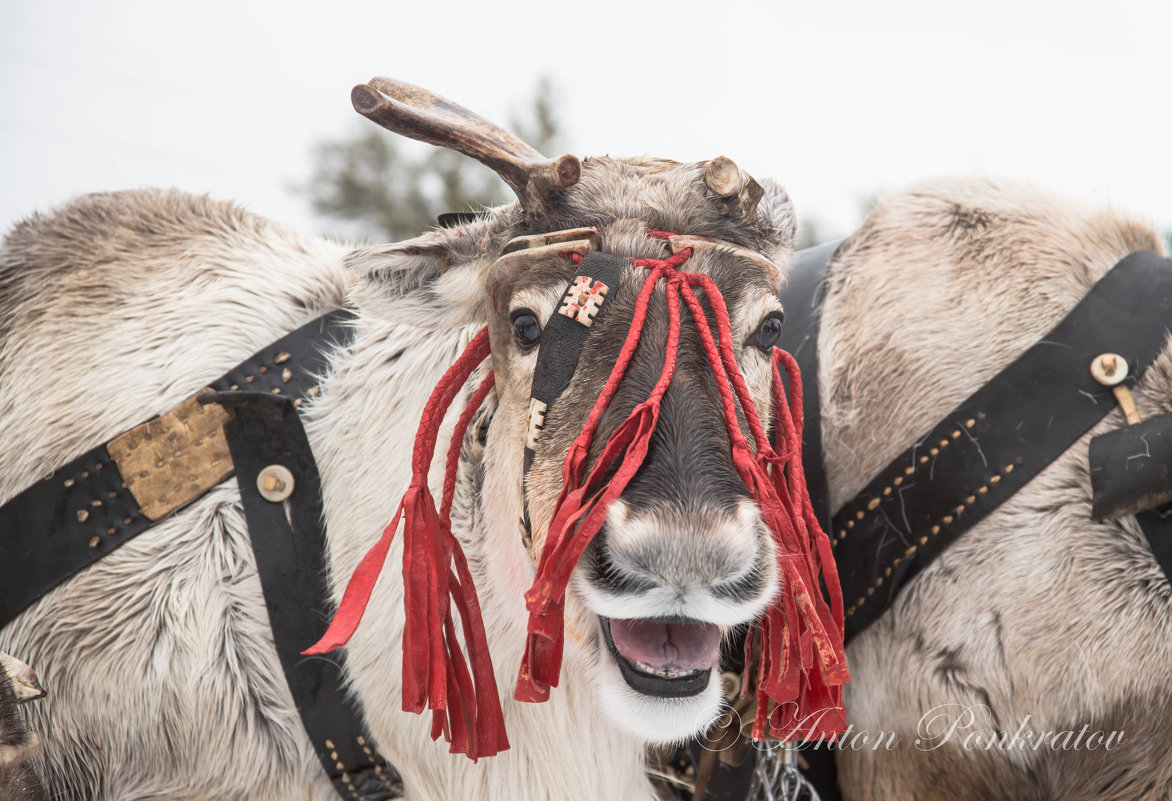
<svg viewBox="0 0 1172 801">
<path fill-rule="evenodd" d="M 656 231 L 652 236 L 667 238 L 672 235 Z M 762 656 L 757 674 L 758 720 L 754 734 L 763 738 L 766 727 L 775 733 L 782 731 L 779 724 L 786 719 L 778 719 L 774 713 L 783 708 L 788 711 L 792 707 L 792 717 L 799 711 L 803 715 L 818 711 L 819 704 L 841 706 L 841 684 L 847 678 L 841 651 L 841 593 L 833 570 L 833 557 L 829 550 L 829 538 L 817 524 L 805 489 L 805 476 L 800 471 L 800 378 L 792 385 L 796 387 L 793 396 L 796 418 L 793 410 L 789 408 L 784 393 L 778 395 L 775 388 L 778 449 L 784 454 L 779 456 L 765 435 L 748 386 L 736 365 L 728 308 L 718 287 L 708 276 L 676 272 L 689 256 L 690 251 L 681 251 L 668 259 L 633 262 L 634 266 L 647 267 L 652 272 L 636 299 L 631 332 L 619 360 L 563 466 L 563 490 L 553 522 L 548 527 L 538 578 L 526 593 L 531 612 L 530 645 L 526 649 L 516 695 L 523 700 L 544 700 L 548 695 L 548 687 L 557 684 L 563 640 L 561 612 L 570 573 L 592 537 L 601 528 L 609 502 L 618 497 L 641 464 L 647 441 L 654 430 L 659 401 L 666 392 L 669 375 L 666 380 L 665 375 L 661 375 L 648 401 L 638 406 L 608 437 L 590 476 L 585 482 L 581 481 L 585 457 L 598 422 L 638 347 L 650 290 L 663 277 L 668 279 L 670 337 L 677 341 L 676 298 L 682 294 L 721 393 L 725 426 L 732 443 L 734 463 L 750 495 L 762 509 L 778 548 L 783 591 L 789 600 L 779 599 L 756 625 L 762 639 Z M 708 317 L 693 292 L 693 286 L 703 287 L 709 297 L 718 341 L 713 338 Z M 672 360 L 674 361 L 674 355 Z M 783 360 L 782 364 L 789 368 L 791 361 Z M 778 357 L 775 357 L 775 383 L 779 381 L 777 365 Z M 750 453 L 749 442 L 741 433 L 737 403 L 745 415 L 755 441 L 756 457 Z M 648 405 L 654 406 L 649 419 L 646 414 Z M 615 476 L 605 487 L 600 487 L 601 477 L 614 460 L 624 455 L 626 459 Z M 634 459 L 631 459 L 633 455 Z M 786 467 L 785 470 L 782 469 L 783 464 Z M 830 565 L 829 570 L 825 569 L 826 565 Z M 825 576 L 833 609 L 827 609 L 822 599 L 818 586 L 819 573 Z M 750 646 L 751 643 L 747 643 L 747 650 Z M 818 663 L 817 670 L 815 660 Z M 833 735 L 841 731 L 844 725 L 840 714 L 837 718 L 831 714 L 825 725 L 811 732 L 811 736 Z"/>
</svg>

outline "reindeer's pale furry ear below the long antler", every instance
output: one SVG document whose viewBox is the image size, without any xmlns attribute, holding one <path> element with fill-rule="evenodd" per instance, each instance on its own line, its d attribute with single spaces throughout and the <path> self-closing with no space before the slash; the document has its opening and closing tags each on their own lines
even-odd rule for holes
<svg viewBox="0 0 1172 801">
<path fill-rule="evenodd" d="M 355 279 L 354 300 L 427 327 L 483 321 L 488 231 L 479 228 L 441 229 L 352 251 L 346 269 Z"/>
</svg>

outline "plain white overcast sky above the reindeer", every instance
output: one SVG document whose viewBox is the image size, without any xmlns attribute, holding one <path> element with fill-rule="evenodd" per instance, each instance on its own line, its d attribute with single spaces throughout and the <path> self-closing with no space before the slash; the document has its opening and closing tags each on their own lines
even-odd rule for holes
<svg viewBox="0 0 1172 801">
<path fill-rule="evenodd" d="M 315 142 L 373 124 L 354 83 L 506 123 L 544 73 L 570 151 L 723 154 L 827 233 L 868 195 L 961 174 L 1172 231 L 1170 52 L 1166 0 L 0 0 L 0 230 L 143 185 L 323 230 L 292 186 Z"/>
</svg>

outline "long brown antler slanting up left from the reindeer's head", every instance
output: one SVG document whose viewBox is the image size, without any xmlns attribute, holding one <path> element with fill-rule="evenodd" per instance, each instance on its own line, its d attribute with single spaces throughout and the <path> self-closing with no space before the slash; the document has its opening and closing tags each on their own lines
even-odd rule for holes
<svg viewBox="0 0 1172 801">
<path fill-rule="evenodd" d="M 577 156 L 545 158 L 484 117 L 410 83 L 373 77 L 350 90 L 350 102 L 355 111 L 388 130 L 471 156 L 499 175 L 529 213 L 581 178 Z"/>
</svg>

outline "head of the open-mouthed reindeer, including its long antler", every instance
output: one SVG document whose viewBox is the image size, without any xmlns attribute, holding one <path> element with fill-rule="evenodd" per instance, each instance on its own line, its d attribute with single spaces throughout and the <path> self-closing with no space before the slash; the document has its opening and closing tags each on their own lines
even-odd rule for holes
<svg viewBox="0 0 1172 801">
<path fill-rule="evenodd" d="M 775 425 L 789 198 L 724 157 L 545 159 L 387 79 L 353 97 L 391 130 L 479 159 L 518 196 L 406 245 L 465 265 L 454 280 L 470 271 L 483 291 L 496 391 L 483 507 L 502 538 L 490 549 L 525 549 L 538 566 L 518 698 L 557 684 L 565 620 L 618 725 L 660 742 L 702 732 L 721 708 L 722 637 L 762 616 L 781 583 L 745 463 Z M 599 253 L 612 257 L 606 281 L 591 274 Z M 581 326 L 574 347 L 552 338 L 559 314 Z M 543 371 L 565 375 L 534 402 Z M 654 421 L 615 442 L 633 414 Z"/>
</svg>

